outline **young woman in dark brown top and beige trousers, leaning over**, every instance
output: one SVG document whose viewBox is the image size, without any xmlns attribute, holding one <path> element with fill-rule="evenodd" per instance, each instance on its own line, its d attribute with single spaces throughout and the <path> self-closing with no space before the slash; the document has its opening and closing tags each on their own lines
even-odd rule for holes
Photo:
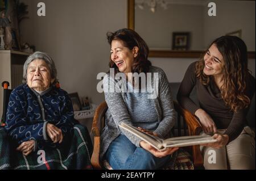
<svg viewBox="0 0 256 181">
<path fill-rule="evenodd" d="M 246 121 L 255 78 L 247 62 L 245 43 L 236 36 L 222 36 L 201 60 L 189 65 L 181 82 L 181 106 L 199 118 L 202 134 L 216 133 L 217 142 L 201 146 L 205 169 L 255 169 L 254 132 Z M 195 86 L 199 106 L 189 98 Z M 213 153 L 216 163 L 208 159 Z"/>
</svg>

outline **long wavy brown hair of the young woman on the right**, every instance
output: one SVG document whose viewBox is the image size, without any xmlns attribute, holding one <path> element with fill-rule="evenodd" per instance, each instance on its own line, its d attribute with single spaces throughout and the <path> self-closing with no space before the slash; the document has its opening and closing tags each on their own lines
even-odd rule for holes
<svg viewBox="0 0 256 181">
<path fill-rule="evenodd" d="M 213 44 L 216 45 L 224 59 L 224 76 L 222 77 L 224 83 L 220 89 L 222 99 L 232 111 L 237 112 L 250 104 L 249 97 L 245 95 L 246 78 L 250 74 L 247 69 L 246 44 L 237 36 L 221 36 L 210 46 Z M 204 66 L 204 57 L 201 57 L 196 63 L 196 77 L 203 85 L 209 85 L 210 76 L 204 74 Z"/>
</svg>

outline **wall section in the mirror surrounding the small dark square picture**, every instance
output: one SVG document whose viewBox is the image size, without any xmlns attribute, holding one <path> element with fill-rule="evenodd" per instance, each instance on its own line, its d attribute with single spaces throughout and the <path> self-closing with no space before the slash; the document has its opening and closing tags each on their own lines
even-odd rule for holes
<svg viewBox="0 0 256 181">
<path fill-rule="evenodd" d="M 204 7 L 201 5 L 168 5 L 152 13 L 148 6 L 135 9 L 135 31 L 152 49 L 171 49 L 172 32 L 191 32 L 190 48 L 204 48 Z M 185 17 L 185 18 L 184 18 Z M 200 40 L 200 41 L 199 41 Z"/>
</svg>

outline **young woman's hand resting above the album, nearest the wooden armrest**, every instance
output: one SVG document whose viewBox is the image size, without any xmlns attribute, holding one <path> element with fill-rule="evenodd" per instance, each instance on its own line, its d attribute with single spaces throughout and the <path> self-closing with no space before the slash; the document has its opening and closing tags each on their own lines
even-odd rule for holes
<svg viewBox="0 0 256 181">
<path fill-rule="evenodd" d="M 207 112 L 205 112 L 202 109 L 199 109 L 195 112 L 195 115 L 196 115 L 196 117 L 199 118 L 200 123 L 201 123 L 205 133 L 216 133 L 217 132 L 216 125 L 215 125 L 214 121 L 212 120 L 212 117 L 210 117 Z"/>
</svg>

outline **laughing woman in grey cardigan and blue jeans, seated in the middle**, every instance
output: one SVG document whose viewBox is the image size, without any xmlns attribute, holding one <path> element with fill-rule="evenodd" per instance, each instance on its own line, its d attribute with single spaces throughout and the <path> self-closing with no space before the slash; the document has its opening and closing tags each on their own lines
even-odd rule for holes
<svg viewBox="0 0 256 181">
<path fill-rule="evenodd" d="M 124 77 L 125 81 L 115 79 L 110 74 L 111 70 L 104 77 L 108 111 L 106 126 L 101 134 L 101 159 L 106 159 L 113 169 L 160 169 L 170 161 L 171 155 L 176 158 L 177 148 L 158 151 L 140 138 L 119 129 L 118 125 L 127 123 L 159 137 L 170 136 L 175 111 L 166 74 L 162 69 L 151 66 L 147 60 L 148 47 L 137 32 L 129 29 L 109 32 L 108 42 L 111 45 L 109 66 L 114 69 L 115 75 Z M 142 91 L 146 85 L 142 79 L 136 82 L 129 77 L 129 73 L 158 74 L 158 79 L 151 78 L 146 82 L 147 85 L 158 84 L 158 95 L 150 98 L 149 91 Z M 122 87 L 133 92 L 121 91 L 119 86 L 112 87 L 121 82 L 124 84 Z"/>
</svg>

